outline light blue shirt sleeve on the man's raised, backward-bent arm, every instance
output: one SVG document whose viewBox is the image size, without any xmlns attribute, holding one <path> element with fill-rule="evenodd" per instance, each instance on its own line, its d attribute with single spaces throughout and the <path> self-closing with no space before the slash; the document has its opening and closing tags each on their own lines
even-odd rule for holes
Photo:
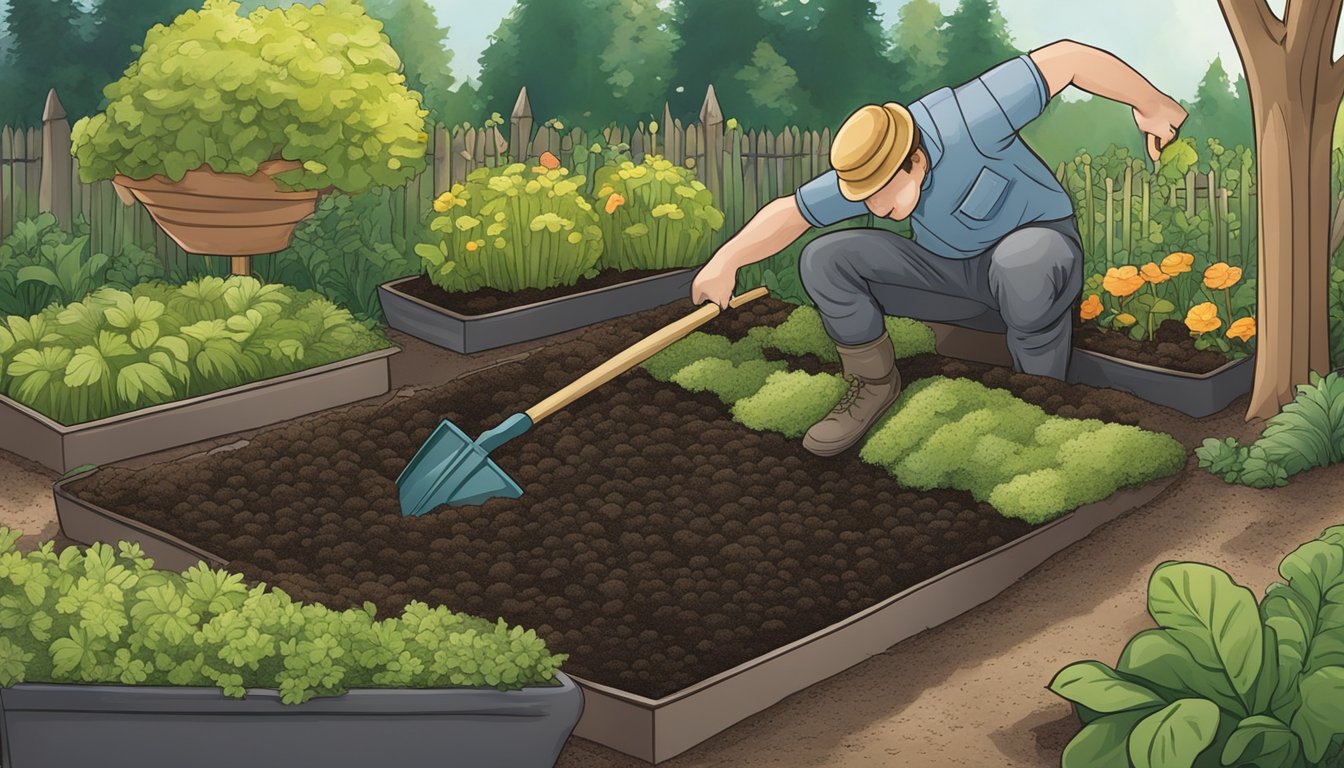
<svg viewBox="0 0 1344 768">
<path fill-rule="evenodd" d="M 956 95 L 972 139 L 984 149 L 1011 141 L 1050 102 L 1046 79 L 1025 54 L 957 87 Z"/>
</svg>

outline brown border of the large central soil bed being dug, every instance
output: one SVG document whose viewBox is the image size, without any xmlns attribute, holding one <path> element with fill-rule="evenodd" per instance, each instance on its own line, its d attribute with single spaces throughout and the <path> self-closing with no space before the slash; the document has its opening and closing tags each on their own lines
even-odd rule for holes
<svg viewBox="0 0 1344 768">
<path fill-rule="evenodd" d="M 165 568 L 188 568 L 199 560 L 227 565 L 215 554 L 83 502 L 66 488 L 95 471 L 55 486 L 60 527 L 69 538 L 85 543 L 137 541 Z M 585 693 L 583 717 L 574 734 L 648 763 L 669 760 L 808 686 L 986 603 L 1097 527 L 1152 502 L 1177 477 L 1085 504 L 848 619 L 660 699 L 570 675 Z"/>
</svg>

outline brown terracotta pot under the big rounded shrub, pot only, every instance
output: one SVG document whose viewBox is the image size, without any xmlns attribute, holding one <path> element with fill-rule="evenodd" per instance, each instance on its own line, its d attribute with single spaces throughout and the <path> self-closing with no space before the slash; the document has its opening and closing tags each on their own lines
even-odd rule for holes
<svg viewBox="0 0 1344 768">
<path fill-rule="evenodd" d="M 128 206 L 140 200 L 155 222 L 187 253 L 257 256 L 289 246 L 294 226 L 317 207 L 317 192 L 285 192 L 271 176 L 293 171 L 294 160 L 262 163 L 257 174 L 216 174 L 208 165 L 180 182 L 164 176 L 112 183 Z"/>
</svg>

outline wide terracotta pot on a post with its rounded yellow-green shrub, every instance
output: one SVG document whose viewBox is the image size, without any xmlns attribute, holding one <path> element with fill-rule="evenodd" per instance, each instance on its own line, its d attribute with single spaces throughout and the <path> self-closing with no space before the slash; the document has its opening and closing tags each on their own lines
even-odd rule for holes
<svg viewBox="0 0 1344 768">
<path fill-rule="evenodd" d="M 239 15 L 206 0 L 145 35 L 75 124 L 85 183 L 112 179 L 188 253 L 247 260 L 289 245 L 321 190 L 401 186 L 425 168 L 421 95 L 356 0 Z"/>
</svg>

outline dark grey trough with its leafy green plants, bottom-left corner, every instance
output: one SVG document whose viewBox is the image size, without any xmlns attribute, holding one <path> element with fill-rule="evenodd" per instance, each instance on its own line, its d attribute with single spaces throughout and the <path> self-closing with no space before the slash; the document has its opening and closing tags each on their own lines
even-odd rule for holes
<svg viewBox="0 0 1344 768">
<path fill-rule="evenodd" d="M 332 611 L 140 547 L 26 555 L 0 527 L 7 768 L 550 767 L 583 694 L 534 631 L 409 604 Z"/>
</svg>

